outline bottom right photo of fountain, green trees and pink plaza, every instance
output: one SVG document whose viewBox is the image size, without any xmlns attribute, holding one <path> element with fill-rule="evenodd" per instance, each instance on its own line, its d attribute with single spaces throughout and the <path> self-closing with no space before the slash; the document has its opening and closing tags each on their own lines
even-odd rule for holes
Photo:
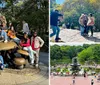
<svg viewBox="0 0 100 85">
<path fill-rule="evenodd" d="M 50 85 L 100 85 L 100 44 L 54 44 L 50 59 Z"/>
</svg>

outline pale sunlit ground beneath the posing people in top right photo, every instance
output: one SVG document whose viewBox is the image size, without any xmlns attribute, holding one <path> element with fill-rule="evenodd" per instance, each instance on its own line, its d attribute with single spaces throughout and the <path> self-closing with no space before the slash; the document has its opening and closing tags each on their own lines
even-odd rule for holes
<svg viewBox="0 0 100 85">
<path fill-rule="evenodd" d="M 52 30 L 50 30 L 50 32 L 52 33 Z M 60 38 L 64 42 L 94 43 L 94 42 L 100 42 L 100 32 L 94 32 L 93 37 L 83 37 L 80 35 L 79 30 L 61 29 Z"/>
</svg>

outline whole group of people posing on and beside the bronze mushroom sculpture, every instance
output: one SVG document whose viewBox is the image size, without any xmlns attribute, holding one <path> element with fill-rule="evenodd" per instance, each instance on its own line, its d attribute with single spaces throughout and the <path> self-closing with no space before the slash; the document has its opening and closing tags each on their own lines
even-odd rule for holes
<svg viewBox="0 0 100 85">
<path fill-rule="evenodd" d="M 4 18 L 5 19 L 5 18 Z M 44 45 L 43 39 L 41 39 L 38 35 L 37 32 L 34 31 L 32 33 L 31 37 L 30 35 L 30 30 L 28 23 L 23 21 L 23 38 L 20 39 L 16 36 L 16 31 L 14 29 L 14 26 L 12 23 L 9 23 L 9 27 L 7 27 L 5 24 L 7 22 L 3 21 L 3 17 L 0 16 L 0 40 L 3 40 L 4 43 L 9 42 L 12 40 L 15 42 L 18 46 L 21 46 L 23 50 L 26 50 L 29 53 L 29 59 L 30 59 L 30 64 L 38 67 L 38 62 L 39 62 L 39 51 L 40 48 Z M 4 68 L 4 59 L 2 55 L 0 54 L 0 68 Z"/>
</svg>

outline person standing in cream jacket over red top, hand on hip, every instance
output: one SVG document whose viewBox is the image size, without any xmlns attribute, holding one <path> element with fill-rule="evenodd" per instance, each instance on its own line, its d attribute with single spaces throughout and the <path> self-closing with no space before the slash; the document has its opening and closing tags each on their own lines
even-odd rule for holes
<svg viewBox="0 0 100 85">
<path fill-rule="evenodd" d="M 39 63 L 39 52 L 40 48 L 44 45 L 44 41 L 37 36 L 37 32 L 33 33 L 33 36 L 31 37 L 31 46 L 34 51 L 36 51 L 36 59 L 35 59 L 35 66 L 38 67 Z"/>
</svg>

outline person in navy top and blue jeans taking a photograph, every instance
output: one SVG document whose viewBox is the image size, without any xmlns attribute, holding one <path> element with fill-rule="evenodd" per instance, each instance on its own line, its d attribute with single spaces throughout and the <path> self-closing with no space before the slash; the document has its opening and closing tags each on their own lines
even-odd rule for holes
<svg viewBox="0 0 100 85">
<path fill-rule="evenodd" d="M 55 10 L 50 15 L 50 25 L 53 31 L 53 33 L 50 34 L 50 37 L 56 35 L 55 42 L 58 42 L 60 40 L 59 38 L 60 28 L 58 27 L 58 21 L 61 21 L 62 17 L 63 15 L 60 14 L 58 10 Z"/>
</svg>

